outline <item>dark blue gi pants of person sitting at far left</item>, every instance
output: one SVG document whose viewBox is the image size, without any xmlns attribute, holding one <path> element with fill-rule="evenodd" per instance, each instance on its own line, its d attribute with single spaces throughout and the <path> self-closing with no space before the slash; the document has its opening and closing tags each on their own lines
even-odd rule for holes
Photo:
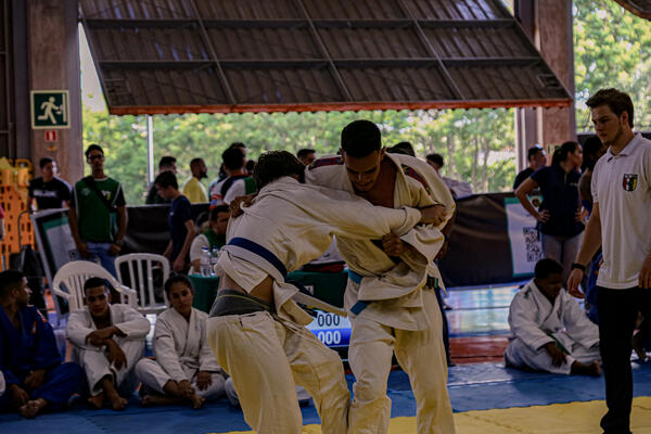
<svg viewBox="0 0 651 434">
<path fill-rule="evenodd" d="M 77 363 L 61 363 L 46 372 L 40 387 L 29 391 L 24 384 L 18 385 L 29 394 L 29 399 L 43 398 L 50 403 L 52 409 L 56 410 L 65 407 L 71 396 L 77 392 L 81 373 L 81 368 Z M 25 379 L 21 380 L 25 381 Z M 10 406 L 10 395 L 5 393 L 0 396 L 0 409 L 9 409 Z"/>
</svg>

